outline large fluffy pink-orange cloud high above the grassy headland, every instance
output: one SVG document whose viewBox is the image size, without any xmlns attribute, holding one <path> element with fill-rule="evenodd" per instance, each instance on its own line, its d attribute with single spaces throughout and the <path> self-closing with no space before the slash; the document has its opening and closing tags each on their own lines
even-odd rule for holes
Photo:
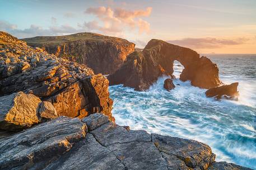
<svg viewBox="0 0 256 170">
<path fill-rule="evenodd" d="M 148 17 L 152 12 L 152 7 L 146 10 L 128 11 L 122 8 L 112 9 L 110 7 L 87 8 L 85 14 L 93 14 L 97 20 L 85 22 L 83 26 L 90 30 L 97 30 L 103 33 L 120 33 L 125 28 L 137 29 L 139 33 L 149 33 L 150 23 L 142 20 L 141 17 Z"/>
</svg>

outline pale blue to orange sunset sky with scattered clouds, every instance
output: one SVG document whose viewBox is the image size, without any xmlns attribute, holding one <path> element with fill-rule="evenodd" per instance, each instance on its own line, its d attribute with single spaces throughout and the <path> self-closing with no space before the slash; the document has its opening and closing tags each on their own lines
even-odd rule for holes
<svg viewBox="0 0 256 170">
<path fill-rule="evenodd" d="M 0 0 L 0 31 L 18 38 L 95 32 L 139 48 L 156 38 L 200 54 L 256 54 L 256 1 Z"/>
</svg>

